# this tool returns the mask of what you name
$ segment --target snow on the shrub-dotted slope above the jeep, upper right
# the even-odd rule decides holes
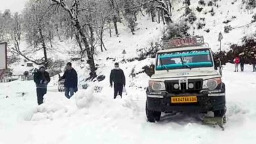
[[[231,3],[234,2],[234,5]],[[208,1],[205,1],[207,4]],[[252,37],[255,33],[255,26],[256,24],[251,24],[249,26],[245,26],[246,24],[251,23],[252,16],[255,14],[256,9],[247,10],[245,9],[245,4],[242,4],[242,1],[217,1],[219,7],[212,7],[198,5],[198,1],[191,1],[190,9],[192,12],[196,14],[196,22],[190,26],[189,33],[190,35],[203,35],[205,39],[205,43],[209,43],[209,46],[212,48],[214,52],[219,50],[220,45],[218,41],[219,33],[223,34],[223,44],[222,50],[228,51],[230,45],[238,44],[242,45],[241,39],[247,35]],[[178,3],[178,0],[175,1],[175,7],[173,10],[173,22],[179,22],[184,18],[182,14],[184,14],[184,5],[183,9],[181,9],[182,3]],[[202,7],[202,12],[198,12],[196,10],[197,7]],[[213,8],[215,15],[211,16],[210,10]],[[178,9],[181,9],[177,11]],[[205,14],[207,12],[207,14]],[[236,16],[236,18],[232,18],[232,16]],[[200,20],[200,18],[205,18],[205,20]],[[231,20],[228,24],[223,24],[224,21]],[[202,22],[205,24],[205,27],[202,29],[197,29],[197,24]],[[232,29],[229,33],[224,33],[224,26],[231,26]],[[241,28],[236,28],[240,26],[245,26]],[[195,27],[195,30],[193,30]],[[209,29],[209,33],[205,30]]]

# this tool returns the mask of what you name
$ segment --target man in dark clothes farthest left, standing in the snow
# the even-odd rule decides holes
[[[47,85],[51,81],[49,73],[45,71],[45,66],[39,66],[39,70],[34,73],[33,81],[37,87],[37,103],[43,103],[43,96],[47,93]]]

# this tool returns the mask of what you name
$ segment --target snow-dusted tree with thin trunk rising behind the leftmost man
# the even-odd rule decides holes
[[[31,61],[47,66],[47,51],[51,48],[53,40],[53,23],[51,22],[53,11],[51,9],[51,1],[28,1],[22,14],[24,16],[23,27],[26,41],[33,47],[30,52],[43,50],[42,58]],[[29,59],[20,49],[16,48],[16,51],[24,56],[24,58]]]

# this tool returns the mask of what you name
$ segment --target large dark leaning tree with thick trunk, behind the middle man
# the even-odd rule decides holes
[[[65,10],[67,12],[68,17],[71,20],[72,27],[75,27],[77,33],[79,33],[79,36],[81,37],[81,41],[83,45],[85,46],[85,49],[83,52],[86,52],[87,54],[87,63],[90,65],[90,70],[93,75],[93,77],[96,77],[96,67],[95,67],[95,60],[94,60],[94,54],[95,54],[95,48],[94,46],[90,46],[89,39],[91,38],[91,41],[93,41],[93,26],[91,25],[91,20],[93,20],[92,15],[87,15],[86,12],[91,12],[91,7],[94,7],[95,5],[93,1],[80,1],[80,0],[70,0],[70,1],[63,1],[63,0],[52,0],[53,5],[60,7],[60,9]],[[88,5],[91,5],[91,7],[87,7]],[[86,18],[86,20],[83,20]],[[88,35],[88,31],[85,28],[89,29],[91,31],[91,37]]]

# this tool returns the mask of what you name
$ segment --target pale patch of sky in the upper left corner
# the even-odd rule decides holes
[[[10,9],[11,12],[21,12],[28,0],[0,0],[0,11]]]

